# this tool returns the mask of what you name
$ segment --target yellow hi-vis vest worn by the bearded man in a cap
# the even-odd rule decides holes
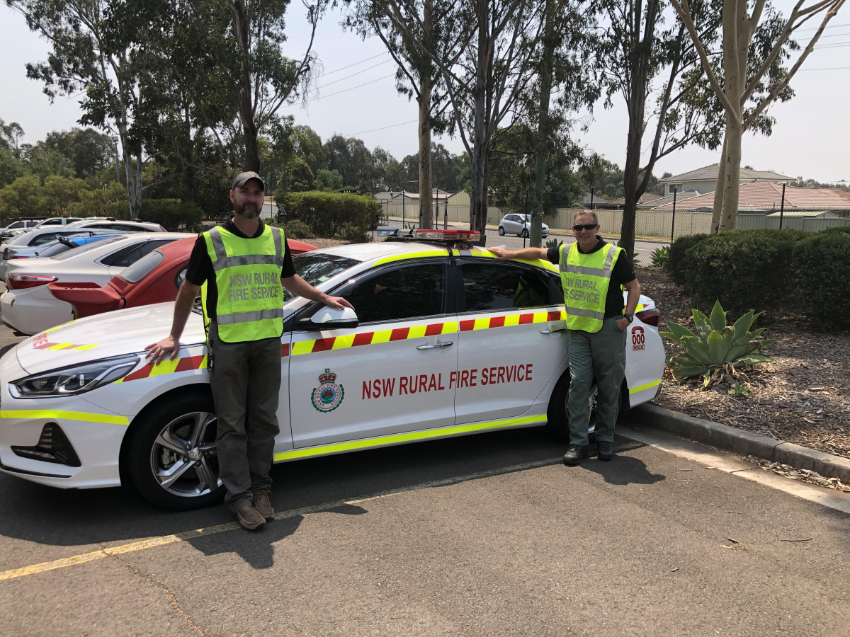
[[[237,237],[216,226],[201,236],[207,243],[218,289],[218,338],[228,343],[256,341],[283,332],[283,267],[285,235],[269,225],[254,239]],[[207,284],[201,290],[208,323]]]

